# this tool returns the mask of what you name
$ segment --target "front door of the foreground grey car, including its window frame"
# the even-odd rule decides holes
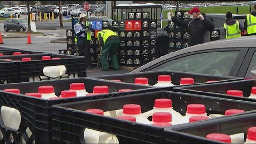
[[[237,76],[248,48],[190,52],[164,60],[144,71],[172,70],[217,76]]]

